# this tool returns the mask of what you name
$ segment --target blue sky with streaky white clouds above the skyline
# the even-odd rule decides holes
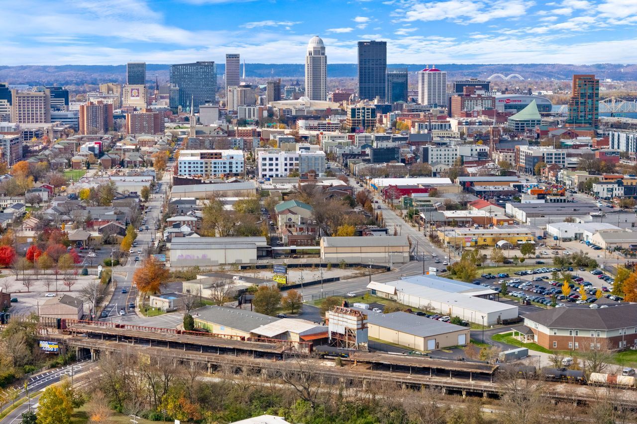
[[[19,6],[18,6],[19,4]],[[389,63],[637,62],[637,0],[0,0],[1,65],[329,63],[387,41]]]

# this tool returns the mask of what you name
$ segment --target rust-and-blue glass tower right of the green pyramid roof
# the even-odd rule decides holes
[[[590,74],[573,75],[573,94],[568,101],[567,127],[594,127],[599,121],[599,80]]]

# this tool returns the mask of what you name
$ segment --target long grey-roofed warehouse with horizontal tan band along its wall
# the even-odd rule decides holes
[[[358,264],[404,264],[409,262],[406,236],[323,237],[320,241],[322,262],[338,264],[341,260]]]

